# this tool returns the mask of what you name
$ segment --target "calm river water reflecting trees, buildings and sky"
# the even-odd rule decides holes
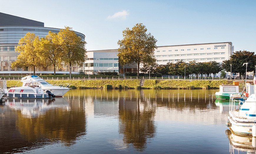
[[[0,105],[0,153],[255,153],[226,135],[229,105],[215,101],[216,91],[89,89],[9,99]]]

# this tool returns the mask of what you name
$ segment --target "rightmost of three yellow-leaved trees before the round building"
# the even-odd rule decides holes
[[[84,63],[86,55],[85,45],[86,42],[70,27],[61,29],[58,33],[59,43],[61,45],[63,55],[62,60],[65,64],[69,65],[69,74],[71,75],[72,65],[80,65]]]

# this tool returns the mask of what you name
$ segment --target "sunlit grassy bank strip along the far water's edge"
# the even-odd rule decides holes
[[[144,86],[139,88],[140,80],[46,80],[51,84],[71,83],[70,88],[87,89],[103,88],[112,85],[113,88],[152,88],[152,89],[202,89],[219,88],[222,84],[232,84],[230,80],[145,80]],[[7,88],[22,86],[20,80],[7,80]]]

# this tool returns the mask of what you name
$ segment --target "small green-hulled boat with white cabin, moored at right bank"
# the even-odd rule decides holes
[[[240,95],[239,93],[239,86],[237,85],[220,85],[220,91],[215,93],[217,99],[230,99],[231,94],[236,94],[237,96]]]

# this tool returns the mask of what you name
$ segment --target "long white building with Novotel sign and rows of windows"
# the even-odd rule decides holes
[[[189,61],[216,61],[222,63],[222,61],[230,58],[233,50],[232,42],[187,44],[159,46],[154,51],[154,55],[159,65],[165,65],[168,62],[176,63],[177,61],[186,63]]]

